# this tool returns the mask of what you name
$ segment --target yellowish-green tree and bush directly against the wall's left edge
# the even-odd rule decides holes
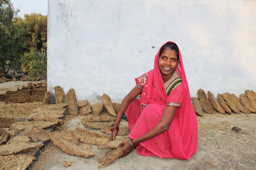
[[[21,20],[19,20],[20,22]],[[25,14],[23,23],[24,42],[28,51],[23,55],[22,62],[25,70],[34,77],[47,73],[47,15],[37,13]]]

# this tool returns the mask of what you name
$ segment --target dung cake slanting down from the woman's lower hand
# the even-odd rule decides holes
[[[105,168],[107,165],[110,165],[112,162],[114,162],[121,154],[122,149],[123,147],[119,147],[119,148],[107,151],[103,157],[98,159],[98,161],[101,163],[101,165],[99,165],[98,168]]]

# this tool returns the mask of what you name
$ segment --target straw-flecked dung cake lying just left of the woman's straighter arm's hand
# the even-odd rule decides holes
[[[79,137],[78,140],[85,144],[101,145],[109,141],[108,135],[82,130],[80,128],[76,128],[75,130],[71,131],[71,133],[73,136]]]

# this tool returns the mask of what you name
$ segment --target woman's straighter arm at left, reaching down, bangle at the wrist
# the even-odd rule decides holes
[[[116,120],[115,120],[115,124],[114,124],[114,127],[118,127],[119,126],[119,123],[121,121],[121,118],[123,116],[123,113],[125,112],[127,106],[129,105],[129,103],[135,99],[135,97],[137,97],[139,94],[142,93],[142,90],[140,90],[140,88],[136,85],[131,91],[130,93],[128,93],[126,95],[126,97],[124,97],[122,103],[120,104],[120,107],[117,111],[117,114],[116,114]],[[118,131],[112,131],[111,135],[110,135],[110,138],[109,138],[109,141],[113,141],[116,139],[116,134],[117,134]]]

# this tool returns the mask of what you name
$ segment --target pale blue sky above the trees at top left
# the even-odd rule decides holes
[[[24,14],[40,13],[47,15],[48,0],[11,0],[14,9],[20,8],[19,16],[24,18]]]

